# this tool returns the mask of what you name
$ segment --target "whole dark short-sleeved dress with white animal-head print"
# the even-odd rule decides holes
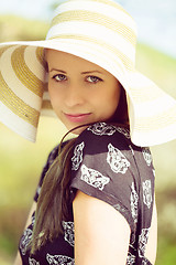
[[[34,198],[36,202],[45,173],[57,155],[58,147],[50,153],[43,169]],[[150,149],[134,146],[128,129],[97,123],[84,130],[75,142],[70,183],[73,199],[80,190],[109,203],[125,218],[131,229],[127,265],[151,265],[145,257],[145,247],[152,221],[154,176]],[[33,214],[31,225],[20,240],[23,264],[74,265],[72,209],[69,219],[63,221],[64,234],[30,256],[28,244],[34,222]]]

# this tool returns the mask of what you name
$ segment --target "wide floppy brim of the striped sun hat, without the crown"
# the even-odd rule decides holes
[[[136,70],[127,70],[106,47],[65,39],[0,44],[0,120],[12,130],[34,141],[41,110],[54,115],[43,49],[82,57],[119,80],[127,92],[133,144],[154,146],[176,138],[175,99]]]

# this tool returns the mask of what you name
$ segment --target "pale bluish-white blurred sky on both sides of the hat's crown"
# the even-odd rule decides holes
[[[50,20],[57,0],[0,0],[0,14]],[[117,0],[135,19],[139,40],[176,57],[175,0]]]

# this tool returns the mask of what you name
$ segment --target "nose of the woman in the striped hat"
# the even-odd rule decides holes
[[[82,105],[85,102],[85,96],[82,88],[77,84],[70,84],[67,87],[67,93],[65,95],[65,104],[67,107],[75,107],[77,105]]]

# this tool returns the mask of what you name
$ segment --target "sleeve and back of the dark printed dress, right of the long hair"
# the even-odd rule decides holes
[[[154,198],[150,149],[134,146],[128,129],[106,123],[90,126],[75,145],[72,188],[119,211],[131,227],[127,264],[150,264],[145,258]]]

